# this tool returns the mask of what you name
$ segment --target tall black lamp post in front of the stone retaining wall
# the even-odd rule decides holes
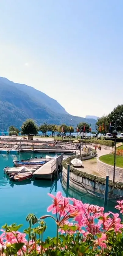
[[[114,127],[114,126],[110,126],[109,127],[109,132],[112,134],[113,138],[114,138],[114,173],[113,173],[113,183],[115,181],[115,166],[116,166],[116,138],[117,138],[117,130],[118,130],[118,127],[121,128],[122,130],[122,127],[120,125],[118,125],[117,127]]]

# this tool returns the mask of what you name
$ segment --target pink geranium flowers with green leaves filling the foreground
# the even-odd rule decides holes
[[[65,198],[61,192],[52,197],[47,211],[55,214],[38,219],[29,214],[29,228],[20,233],[22,225],[15,223],[2,227],[0,255],[41,256],[121,256],[123,251],[123,224],[119,214],[104,213],[104,208]],[[123,213],[123,200],[115,207]],[[56,223],[56,237],[43,240],[47,228],[44,219]],[[73,222],[70,220],[73,219]],[[34,225],[36,226],[34,227]],[[4,229],[4,231],[3,231]],[[26,239],[26,234],[28,239]]]

